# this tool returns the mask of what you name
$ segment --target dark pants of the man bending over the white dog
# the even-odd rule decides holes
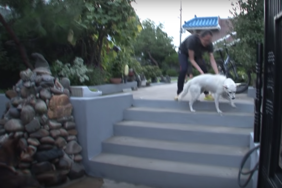
[[[192,64],[188,62],[187,55],[178,53],[178,61],[180,64],[180,73],[177,81],[177,95],[179,95],[179,93],[183,91],[185,76],[187,72],[188,74],[192,73]],[[204,73],[208,72],[204,59],[196,60],[196,62]],[[209,92],[205,91],[204,94],[209,94]]]

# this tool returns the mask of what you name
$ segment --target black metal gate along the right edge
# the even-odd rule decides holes
[[[263,110],[258,188],[282,187],[282,0],[265,0]]]

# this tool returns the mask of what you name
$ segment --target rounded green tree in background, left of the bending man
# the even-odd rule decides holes
[[[143,30],[134,43],[135,56],[142,57],[145,61],[162,68],[162,62],[167,56],[175,53],[172,37],[163,31],[164,25],[155,24],[146,19],[142,22]]]

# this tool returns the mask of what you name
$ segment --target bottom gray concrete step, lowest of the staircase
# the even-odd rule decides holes
[[[239,188],[238,168],[207,166],[101,153],[91,159],[93,175],[156,188]],[[242,177],[243,181],[244,177]],[[247,188],[251,188],[250,183]]]

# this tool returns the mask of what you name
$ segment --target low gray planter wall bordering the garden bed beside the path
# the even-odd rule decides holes
[[[120,93],[123,89],[130,89],[137,87],[137,82],[127,82],[126,84],[105,84],[98,86],[88,86],[89,89],[96,89],[102,91],[103,95],[112,94],[112,93]]]

